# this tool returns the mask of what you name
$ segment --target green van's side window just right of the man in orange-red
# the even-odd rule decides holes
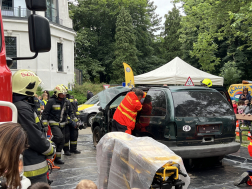
[[[143,102],[143,109],[141,115],[147,114],[148,116],[166,115],[166,98],[163,91],[148,91]]]

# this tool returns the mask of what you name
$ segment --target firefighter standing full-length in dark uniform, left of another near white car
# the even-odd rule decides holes
[[[69,116],[72,121],[73,127],[76,127],[78,121],[75,117],[70,102],[66,100],[66,89],[57,85],[54,89],[54,95],[47,102],[45,110],[42,113],[43,125],[51,127],[53,134],[52,141],[56,145],[56,158],[55,163],[64,164],[61,160],[61,151],[65,143],[65,126],[67,124],[67,117]]]

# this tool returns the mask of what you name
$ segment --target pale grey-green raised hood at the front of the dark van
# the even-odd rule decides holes
[[[127,87],[112,87],[105,89],[101,92],[98,93],[99,101],[100,101],[100,106],[102,109],[106,107],[106,105],[119,93],[125,92],[125,91],[130,91],[130,88]]]

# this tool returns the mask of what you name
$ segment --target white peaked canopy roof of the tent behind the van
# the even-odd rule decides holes
[[[185,85],[188,77],[192,79],[194,85],[200,85],[200,81],[205,78],[211,79],[213,85],[223,85],[224,82],[223,77],[203,72],[181,60],[179,57],[174,58],[155,70],[135,76],[134,80],[135,84]]]

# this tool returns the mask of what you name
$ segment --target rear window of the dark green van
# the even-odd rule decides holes
[[[233,109],[219,92],[186,91],[172,93],[176,117],[233,115]]]

